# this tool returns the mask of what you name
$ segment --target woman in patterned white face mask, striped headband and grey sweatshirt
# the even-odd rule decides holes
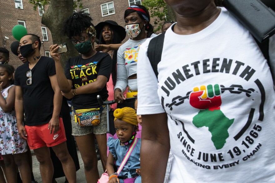
[[[123,92],[128,86],[127,98],[137,94],[137,60],[139,46],[148,37],[155,37],[150,15],[146,7],[135,4],[124,12],[125,30],[132,38],[118,49],[118,74],[114,98],[118,103],[125,100]]]

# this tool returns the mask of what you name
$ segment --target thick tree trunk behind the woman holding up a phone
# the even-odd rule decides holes
[[[70,39],[61,33],[63,22],[73,14],[73,0],[53,0],[42,16],[41,23],[47,26],[53,38],[53,44],[67,43],[68,52],[61,54],[60,61],[64,67],[69,58],[78,55]]]

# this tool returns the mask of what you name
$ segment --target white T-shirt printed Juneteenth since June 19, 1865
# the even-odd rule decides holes
[[[167,30],[159,82],[149,40],[140,46],[138,114],[168,114],[171,183],[275,181],[272,76],[249,31],[221,9],[195,34]]]

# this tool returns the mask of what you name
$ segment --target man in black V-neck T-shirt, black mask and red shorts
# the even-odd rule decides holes
[[[76,182],[76,171],[66,146],[66,136],[59,113],[62,94],[57,84],[53,59],[40,55],[38,36],[27,34],[19,43],[20,53],[28,62],[15,72],[15,110],[18,133],[26,139],[40,163],[43,182],[52,182],[53,163],[49,147],[52,147],[62,163],[69,182]],[[26,121],[23,126],[23,113]]]

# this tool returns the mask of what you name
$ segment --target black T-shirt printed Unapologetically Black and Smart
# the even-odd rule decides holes
[[[81,55],[73,57],[67,61],[65,75],[67,79],[73,81],[73,89],[96,81],[98,75],[110,78],[112,70],[112,58],[108,53],[97,52],[88,59],[81,58]],[[76,95],[72,99],[75,109],[97,108],[99,107],[97,95],[101,95],[103,100],[108,98],[106,85],[101,91],[92,94]]]

